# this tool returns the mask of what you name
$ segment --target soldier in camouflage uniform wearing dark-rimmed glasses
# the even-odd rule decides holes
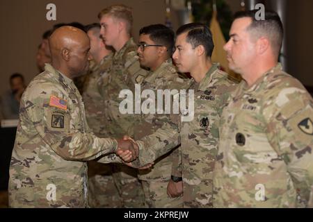
[[[185,80],[180,78],[172,65],[172,49],[174,46],[173,31],[156,24],[141,28],[139,31],[138,56],[141,66],[150,68],[150,74],[143,80],[141,90],[152,89],[157,95],[158,89],[181,89]],[[157,105],[157,101],[152,103]],[[166,104],[169,105],[169,104]],[[154,133],[164,122],[170,121],[166,114],[136,115],[138,120],[134,127],[134,139]],[[182,198],[170,198],[167,195],[168,181],[172,171],[172,159],[180,149],[175,148],[166,155],[159,157],[152,169],[140,170],[138,178],[143,184],[145,205],[147,207],[182,207]]]

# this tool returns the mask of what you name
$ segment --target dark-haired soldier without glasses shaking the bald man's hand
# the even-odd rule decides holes
[[[211,31],[203,24],[186,24],[177,30],[172,58],[179,71],[190,72],[194,112],[190,121],[164,123],[156,133],[138,140],[138,160],[146,164],[181,144],[184,207],[212,207],[212,180],[218,144],[218,121],[235,83],[212,64]],[[189,96],[188,96],[189,97]],[[178,156],[179,157],[179,156]],[[136,162],[132,163],[135,164]],[[177,173],[177,172],[176,172]],[[174,175],[174,176],[179,176]],[[181,185],[182,186],[182,185]]]

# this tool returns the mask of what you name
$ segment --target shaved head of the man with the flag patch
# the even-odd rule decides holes
[[[49,38],[52,65],[65,76],[74,78],[88,69],[90,40],[79,28],[61,26]]]

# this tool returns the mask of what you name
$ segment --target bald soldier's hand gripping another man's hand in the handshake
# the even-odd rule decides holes
[[[138,146],[130,140],[118,139],[118,150],[115,152],[125,162],[136,160],[138,155]],[[128,152],[127,152],[128,151]]]

